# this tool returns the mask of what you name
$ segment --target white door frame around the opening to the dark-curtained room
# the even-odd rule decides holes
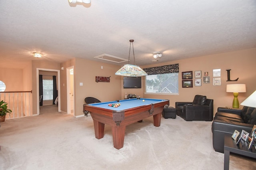
[[[37,115],[40,114],[40,105],[39,105],[39,70],[42,71],[52,71],[57,72],[57,81],[58,81],[58,112],[60,112],[60,70],[52,70],[52,69],[46,69],[46,68],[36,68],[36,96],[37,96]]]

